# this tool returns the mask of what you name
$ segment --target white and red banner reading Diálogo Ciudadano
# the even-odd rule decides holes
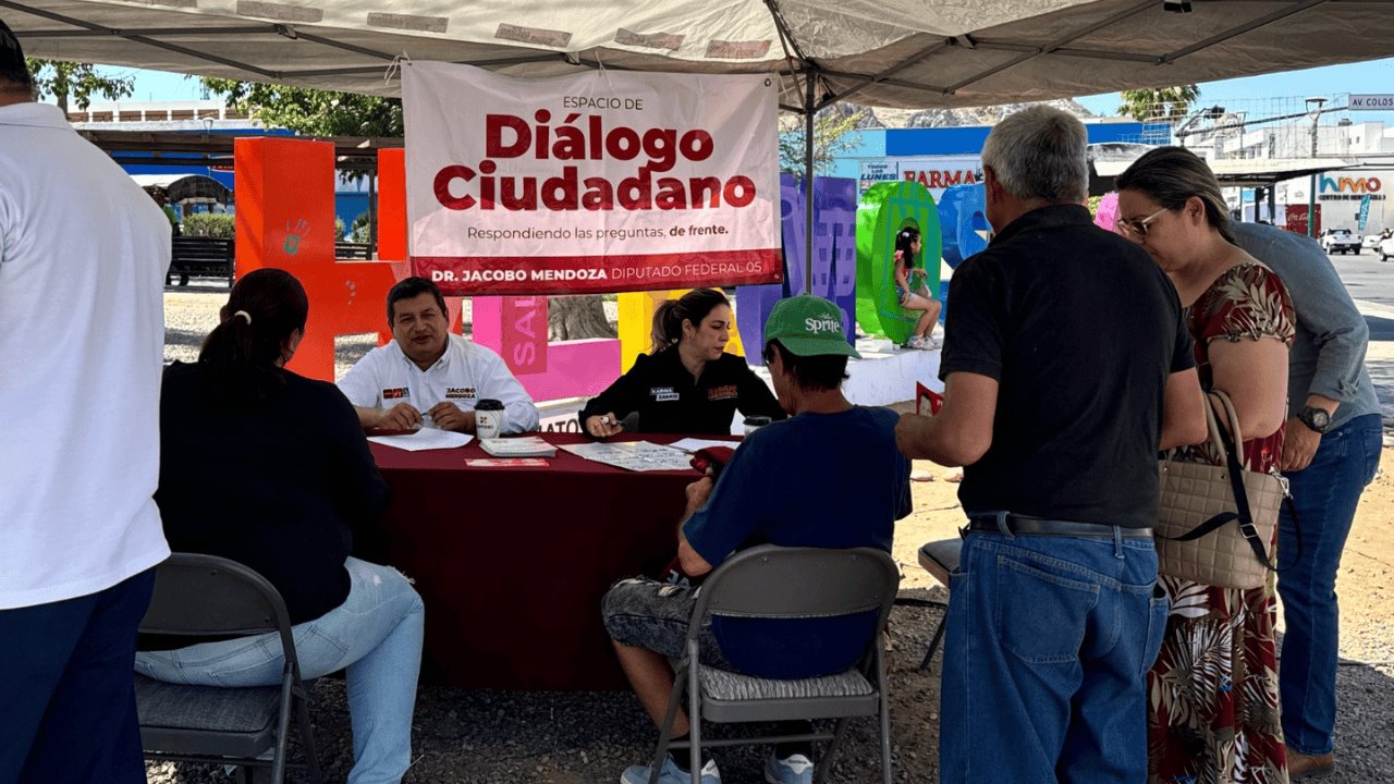
[[[401,67],[413,269],[450,294],[781,279],[775,84]]]

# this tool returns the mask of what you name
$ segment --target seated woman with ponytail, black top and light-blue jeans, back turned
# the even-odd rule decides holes
[[[350,781],[399,781],[411,763],[411,714],[424,608],[406,578],[350,558],[388,487],[348,400],[284,370],[309,311],[289,272],[237,280],[197,364],[174,363],[160,395],[155,501],[170,547],[251,566],[286,600],[301,674],[347,668]],[[173,684],[280,684],[276,635],[137,654]]]

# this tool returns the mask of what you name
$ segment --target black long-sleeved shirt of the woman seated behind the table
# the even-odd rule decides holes
[[[640,432],[728,434],[736,409],[746,416],[785,419],[779,402],[743,357],[722,354],[707,363],[701,378],[683,367],[677,349],[640,354],[634,367],[581,409],[585,420],[613,412],[625,419],[638,412]]]

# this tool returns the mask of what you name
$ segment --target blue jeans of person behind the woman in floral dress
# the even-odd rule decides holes
[[[1322,437],[1312,463],[1285,474],[1298,511],[1278,519],[1278,596],[1282,598],[1282,661],[1278,693],[1282,734],[1305,755],[1330,753],[1335,732],[1338,610],[1335,573],[1351,533],[1361,491],[1380,466],[1380,417],[1355,417]]]

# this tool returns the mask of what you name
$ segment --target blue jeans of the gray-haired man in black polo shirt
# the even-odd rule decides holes
[[[1150,538],[970,532],[949,583],[940,781],[1144,781],[1167,611]]]

